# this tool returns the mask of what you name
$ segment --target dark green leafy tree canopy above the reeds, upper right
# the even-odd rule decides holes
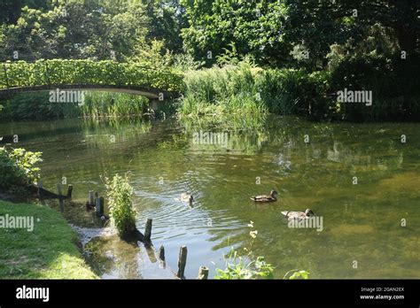
[[[212,51],[210,64],[223,50],[231,50],[231,43],[239,55],[252,54],[261,64],[313,68],[327,64],[334,44],[342,46],[344,54],[384,53],[378,42],[386,40],[408,54],[418,52],[416,0],[183,0],[182,4],[189,21],[183,29],[185,45],[199,58]],[[299,57],[302,51],[308,51],[308,58]]]

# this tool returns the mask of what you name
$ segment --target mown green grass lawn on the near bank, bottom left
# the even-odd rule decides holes
[[[0,201],[0,216],[33,216],[34,231],[0,228],[0,279],[96,279],[59,212],[41,204]],[[39,221],[37,221],[39,219]]]

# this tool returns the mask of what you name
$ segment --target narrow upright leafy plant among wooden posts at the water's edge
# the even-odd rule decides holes
[[[133,208],[133,188],[128,183],[128,174],[105,177],[106,195],[113,225],[121,237],[132,235],[136,230],[136,211]]]

